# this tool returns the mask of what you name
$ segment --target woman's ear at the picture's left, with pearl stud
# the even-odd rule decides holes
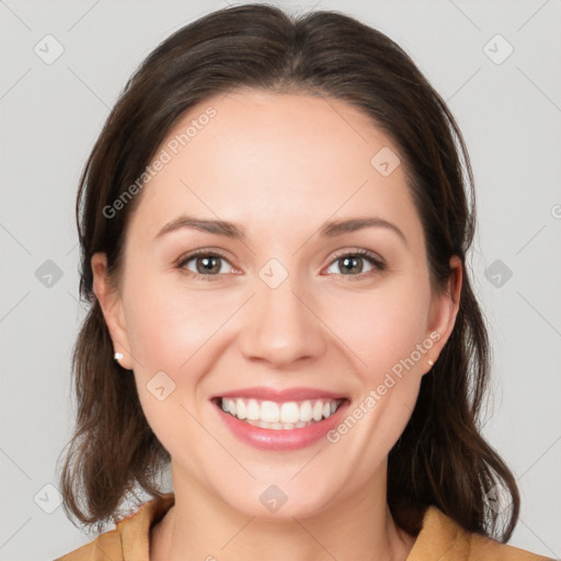
[[[131,369],[131,353],[126,330],[123,302],[118,291],[113,287],[107,274],[107,256],[105,253],[94,253],[91,259],[93,273],[93,291],[100,302],[110,331],[115,353],[122,353],[123,358],[119,365],[123,368]]]

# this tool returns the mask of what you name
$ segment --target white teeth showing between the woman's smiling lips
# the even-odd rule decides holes
[[[227,414],[260,428],[290,431],[329,419],[345,399],[275,401],[248,398],[217,398],[215,403]]]

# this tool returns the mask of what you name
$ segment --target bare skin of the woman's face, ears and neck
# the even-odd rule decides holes
[[[114,348],[172,457],[175,506],[152,529],[150,559],[405,559],[414,537],[389,513],[387,457],[454,327],[461,263],[451,259],[447,289],[434,293],[404,163],[389,176],[370,164],[382,147],[399,151],[358,110],[242,90],[192,107],[162,147],[209,105],[217,115],[138,195],[116,287],[104,255],[92,259]],[[190,228],[154,239],[183,214],[237,222],[247,240]],[[357,216],[393,224],[407,242],[381,227],[320,238],[324,221]],[[204,274],[197,259],[178,266],[197,249],[227,256],[210,282],[193,276]],[[335,253],[357,249],[386,267],[359,260],[346,272]],[[276,288],[259,276],[271,259],[288,273]],[[259,450],[209,401],[313,387],[347,396],[353,411],[434,332],[438,342],[335,444]],[[175,383],[163,401],[147,389],[159,371]],[[271,484],[287,496],[276,513],[259,499]]]

